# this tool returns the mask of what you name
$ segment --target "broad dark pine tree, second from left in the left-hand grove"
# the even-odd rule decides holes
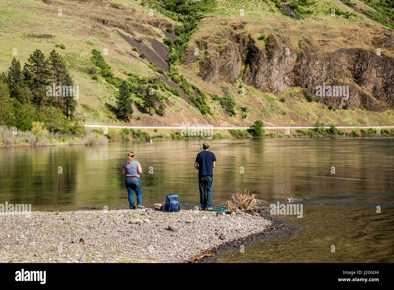
[[[48,70],[48,61],[45,59],[45,55],[41,50],[37,49],[35,52],[30,54],[26,63],[30,72],[32,72],[32,86],[35,89],[40,88],[48,84],[48,79],[50,77],[50,71]]]

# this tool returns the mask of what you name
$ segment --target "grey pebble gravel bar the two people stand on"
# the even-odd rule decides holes
[[[185,209],[1,215],[0,262],[188,262],[291,230],[258,213]]]

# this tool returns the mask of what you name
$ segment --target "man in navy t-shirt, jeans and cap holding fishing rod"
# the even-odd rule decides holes
[[[201,210],[212,209],[212,180],[214,177],[212,169],[215,167],[216,157],[214,153],[209,152],[209,147],[208,142],[203,143],[204,151],[197,154],[194,164],[195,169],[198,170]]]

